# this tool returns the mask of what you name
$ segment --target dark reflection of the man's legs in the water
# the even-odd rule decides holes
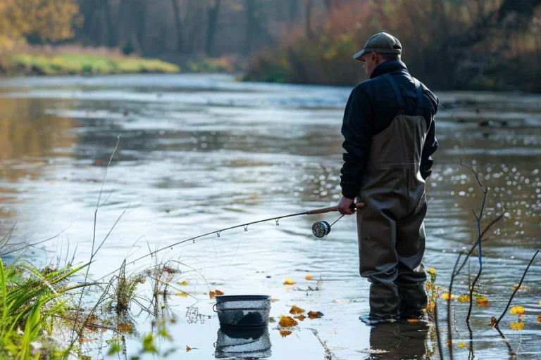
[[[369,359],[424,359],[428,326],[424,323],[383,323],[370,332]],[[376,350],[383,350],[378,354]]]

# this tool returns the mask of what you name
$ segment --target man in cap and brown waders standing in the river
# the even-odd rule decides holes
[[[402,45],[381,32],[354,60],[370,79],[352,91],[342,124],[342,214],[357,210],[361,276],[370,286],[375,324],[423,315],[427,305],[422,260],[425,252],[425,179],[437,149],[434,115],[438,99],[413,79],[400,60]]]

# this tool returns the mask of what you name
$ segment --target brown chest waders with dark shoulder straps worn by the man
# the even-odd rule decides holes
[[[423,90],[416,79],[413,93],[401,91],[389,74],[383,77],[397,97],[398,115],[372,138],[359,192],[365,207],[357,211],[360,274],[371,282],[372,323],[418,317],[427,305],[422,264],[427,208],[419,172],[427,133]],[[416,115],[406,115],[404,96],[416,98]]]

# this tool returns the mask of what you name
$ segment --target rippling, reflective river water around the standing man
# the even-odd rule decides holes
[[[270,350],[231,359],[422,359],[434,355],[434,327],[420,324],[371,329],[358,320],[368,311],[368,283],[358,276],[356,223],[346,217],[329,236],[311,234],[314,221],[337,214],[301,216],[233,229],[168,248],[138,262],[149,249],[250,221],[335,205],[340,199],[340,125],[350,89],[330,86],[239,83],[227,75],[137,75],[4,79],[0,83],[0,230],[15,224],[11,243],[39,244],[26,255],[35,262],[83,262],[121,216],[95,259],[92,278],[118,269],[143,271],[153,262],[178,261],[187,281],[168,306],[170,358],[213,359],[223,349],[213,300],[262,294],[277,301],[270,316],[292,305],[321,311],[282,338],[271,323]],[[508,314],[497,330],[487,326],[502,313],[539,247],[541,219],[541,97],[521,94],[438,93],[440,112],[433,176],[428,179],[427,267],[436,285],[449,286],[458,252],[475,240],[483,194],[461,159],[489,187],[483,224],[505,216],[483,243],[483,275],[476,286],[489,300],[473,305],[471,343],[468,304],[452,301],[454,358],[540,359],[541,259],[530,268],[514,305],[526,309],[522,330]],[[108,160],[116,146],[111,166]],[[123,214],[123,212],[125,213]],[[17,246],[17,245],[13,245]],[[69,248],[68,248],[69,247]],[[13,258],[8,255],[7,259]],[[178,263],[175,263],[178,264]],[[477,252],[456,278],[453,293],[467,292],[478,271]],[[305,276],[311,274],[312,280]],[[468,276],[470,274],[470,276]],[[294,285],[283,285],[291,278]],[[444,292],[442,289],[440,291]],[[438,301],[446,356],[446,302]],[[197,323],[187,316],[197,309]],[[137,316],[144,335],[150,320]],[[267,337],[267,335],[264,335]],[[267,342],[268,340],[268,342]],[[127,338],[128,356],[141,341]],[[192,348],[186,352],[185,348]],[[89,346],[92,347],[92,346]],[[381,354],[374,354],[374,349]],[[233,348],[234,350],[234,348]],[[267,351],[268,350],[268,351]],[[91,352],[101,357],[97,350]],[[250,357],[251,356],[251,357]],[[149,357],[151,358],[151,356]]]

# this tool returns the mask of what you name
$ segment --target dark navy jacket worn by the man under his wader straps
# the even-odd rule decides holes
[[[368,159],[372,136],[387,129],[398,115],[397,98],[391,85],[381,75],[390,74],[404,93],[415,96],[415,84],[411,80],[406,65],[399,60],[386,61],[378,65],[371,79],[361,82],[352,91],[347,101],[342,123],[344,136],[344,166],[340,186],[342,195],[354,199],[359,194],[363,170]],[[410,93],[411,91],[411,93]],[[428,134],[421,155],[421,176],[430,176],[433,160],[431,156],[437,149],[434,115],[439,104],[438,98],[423,85],[424,111]],[[416,115],[416,99],[404,96],[406,115]]]

